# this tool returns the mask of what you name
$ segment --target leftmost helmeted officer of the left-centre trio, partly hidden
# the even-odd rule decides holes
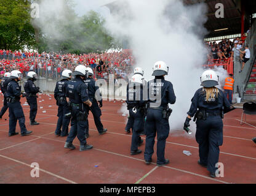
[[[62,77],[60,81],[57,81],[54,89],[54,98],[58,105],[58,122],[55,129],[55,135],[60,137],[65,137],[68,135],[68,124],[70,124],[70,107],[68,102],[66,102],[66,85],[68,80],[71,79],[71,70],[65,69],[62,72]],[[61,131],[62,129],[62,131]]]

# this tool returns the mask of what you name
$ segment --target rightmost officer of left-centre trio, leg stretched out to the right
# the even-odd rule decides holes
[[[90,107],[89,109],[90,111],[92,111],[92,115],[94,116],[94,123],[97,127],[98,134],[102,135],[102,134],[105,134],[107,131],[107,129],[103,128],[103,124],[100,121],[100,116],[102,115],[102,111],[100,110],[100,108],[103,106],[102,95],[100,94],[100,89],[98,88],[98,85],[95,83],[94,78],[92,78],[92,76],[94,75],[94,72],[92,69],[90,69],[90,67],[87,67],[87,74],[88,75],[85,80],[85,83],[88,86],[88,96],[89,96],[90,102],[92,102],[92,107]],[[98,104],[100,105],[100,107]],[[87,119],[86,138],[88,137],[89,137],[89,123]]]

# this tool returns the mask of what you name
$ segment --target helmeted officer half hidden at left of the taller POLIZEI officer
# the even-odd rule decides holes
[[[130,155],[140,154],[138,149],[143,143],[140,132],[144,130],[144,116],[146,101],[143,100],[143,77],[135,74],[127,85],[127,108],[129,109],[129,119],[132,127],[132,145]],[[145,92],[147,93],[147,92]]]

